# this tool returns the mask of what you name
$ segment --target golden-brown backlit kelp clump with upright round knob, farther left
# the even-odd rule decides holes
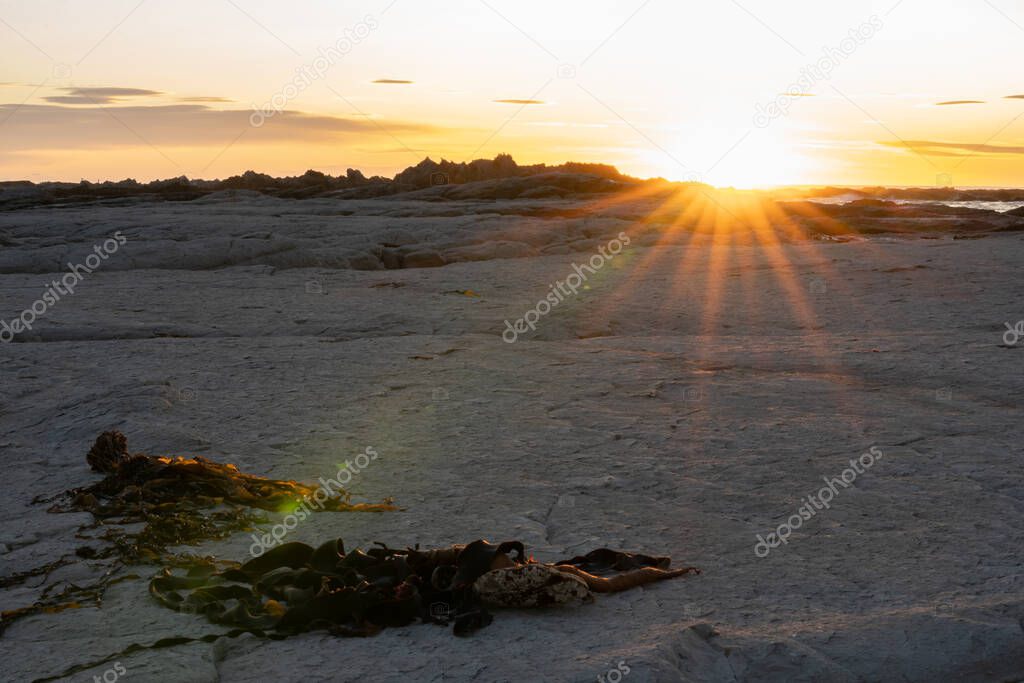
[[[11,622],[29,614],[99,606],[111,585],[134,577],[119,575],[130,565],[158,564],[193,570],[206,567],[213,571],[223,563],[168,549],[198,546],[251,530],[257,524],[268,523],[262,511],[287,509],[318,490],[297,481],[246,474],[234,465],[201,457],[130,454],[127,438],[117,431],[100,434],[86,455],[86,462],[105,476],[88,486],[37,498],[34,503],[52,503],[49,512],[53,513],[91,513],[92,522],[83,525],[76,538],[98,545],[81,546],[75,553],[39,567],[0,578],[0,588],[39,577],[46,584],[54,571],[82,561],[98,562],[97,579],[84,586],[63,582],[46,585],[32,605],[0,614],[0,634]],[[337,512],[397,509],[390,500],[354,504],[344,492],[318,501],[317,507]]]

